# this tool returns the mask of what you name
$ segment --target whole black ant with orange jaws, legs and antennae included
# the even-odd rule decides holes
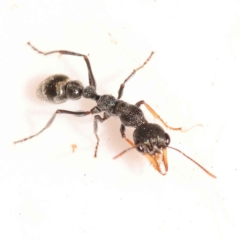
[[[125,87],[125,84],[128,82],[128,80],[135,75],[135,73],[143,68],[149,60],[152,58],[154,52],[151,52],[149,57],[146,59],[146,61],[139,66],[138,68],[134,69],[132,73],[123,81],[123,83],[120,85],[120,88],[118,90],[118,97],[115,98],[112,95],[98,95],[96,92],[96,81],[93,76],[92,68],[90,61],[88,59],[87,55],[71,52],[67,50],[55,50],[55,51],[49,51],[49,52],[42,52],[38,50],[36,47],[34,47],[30,42],[27,43],[33,50],[36,52],[43,54],[43,55],[50,55],[54,53],[64,54],[64,55],[72,55],[72,56],[79,56],[83,57],[84,61],[86,62],[87,69],[88,69],[88,76],[89,76],[89,86],[83,87],[82,83],[80,81],[76,80],[70,80],[68,76],[63,74],[55,74],[47,79],[45,79],[40,86],[37,89],[37,95],[42,100],[51,102],[51,103],[62,103],[65,102],[68,99],[71,100],[78,100],[81,97],[92,99],[96,101],[96,106],[93,107],[90,111],[68,111],[68,110],[62,110],[58,109],[56,112],[52,115],[50,120],[47,122],[45,127],[39,131],[38,133],[31,135],[27,138],[23,138],[19,141],[15,141],[14,144],[24,142],[26,140],[29,140],[33,137],[38,136],[40,133],[42,133],[44,130],[49,128],[51,124],[53,123],[55,117],[58,114],[70,114],[74,115],[76,117],[85,117],[87,115],[94,115],[94,134],[97,139],[95,151],[94,151],[94,157],[97,157],[97,150],[99,146],[99,137],[97,134],[98,131],[98,122],[104,122],[108,118],[115,116],[118,117],[121,121],[121,127],[120,127],[120,133],[122,135],[122,138],[124,138],[132,147],[129,149],[126,149],[125,151],[121,152],[117,156],[114,157],[117,158],[121,156],[126,151],[129,151],[131,149],[136,149],[138,152],[144,154],[149,162],[153,165],[153,167],[162,175],[165,175],[168,171],[168,161],[167,161],[167,148],[171,148],[175,151],[178,151],[179,153],[183,154],[186,158],[194,162],[196,165],[198,165],[203,171],[205,171],[208,175],[210,175],[213,178],[216,178],[212,173],[210,173],[208,170],[206,170],[204,167],[202,167],[199,163],[197,163],[195,160],[187,156],[182,151],[169,146],[170,144],[170,136],[164,131],[164,129],[159,126],[158,124],[154,123],[148,123],[148,121],[145,119],[144,114],[142,110],[140,109],[141,105],[144,105],[147,110],[158,120],[160,120],[163,125],[170,129],[175,131],[185,131],[182,128],[174,128],[168,126],[163,119],[143,100],[137,102],[135,105],[129,104],[127,102],[124,102],[121,99],[123,95],[123,90]],[[103,117],[98,115],[99,113],[103,112]],[[198,124],[200,125],[200,124]],[[195,125],[197,126],[197,125]],[[195,127],[193,126],[193,127]],[[133,127],[135,128],[133,132],[133,141],[134,143],[128,139],[125,135],[125,127]],[[190,128],[189,128],[190,129]],[[187,129],[187,130],[189,130]]]

